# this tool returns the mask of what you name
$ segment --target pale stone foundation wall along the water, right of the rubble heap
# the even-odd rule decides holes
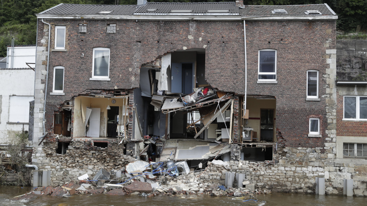
[[[183,184],[197,183],[199,188],[206,190],[224,185],[226,172],[236,172],[245,174],[245,179],[254,183],[258,190],[315,194],[315,177],[325,177],[327,195],[343,195],[343,180],[353,179],[354,195],[367,196],[367,167],[337,163],[333,151],[335,147],[278,148],[275,156],[279,163],[230,161],[229,166],[223,166],[208,162],[205,172],[176,179]]]

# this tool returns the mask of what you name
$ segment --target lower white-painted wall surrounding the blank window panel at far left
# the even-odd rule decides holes
[[[2,96],[0,114],[0,144],[14,143],[15,134],[28,130],[28,124],[8,124],[10,96],[34,95],[34,71],[31,69],[0,69],[0,95]]]

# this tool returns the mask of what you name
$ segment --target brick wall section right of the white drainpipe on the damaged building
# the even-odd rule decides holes
[[[328,29],[331,29],[328,31]],[[291,147],[322,147],[327,135],[308,137],[309,116],[326,115],[326,49],[335,49],[335,21],[246,21],[247,94],[276,97],[276,127]],[[277,84],[257,84],[258,50],[277,49]],[[306,101],[306,71],[319,70],[320,101]],[[320,119],[321,128],[327,119]]]

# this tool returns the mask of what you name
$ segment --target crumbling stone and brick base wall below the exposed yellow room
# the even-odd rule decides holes
[[[65,140],[65,139],[64,139]],[[124,171],[125,166],[134,158],[124,155],[123,144],[109,141],[108,147],[93,146],[92,139],[71,139],[66,154],[57,154],[57,142],[44,143],[43,150],[36,150],[32,161],[39,166],[39,170],[51,170],[51,184],[63,185],[69,180],[83,174],[93,176],[101,169],[105,169],[114,177],[117,170]]]

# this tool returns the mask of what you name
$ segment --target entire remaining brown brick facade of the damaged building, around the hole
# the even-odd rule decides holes
[[[139,66],[178,49],[206,49],[206,80],[222,91],[244,94],[244,42],[241,21],[112,21],[51,20],[66,25],[67,52],[50,52],[47,95],[52,90],[53,67],[65,66],[65,96],[47,97],[46,124],[53,111],[86,89],[113,90],[139,87]],[[87,23],[87,33],[79,33]],[[107,23],[116,23],[116,34],[107,34]],[[46,36],[39,21],[39,45]],[[191,38],[191,36],[193,38]],[[320,137],[308,137],[310,115],[326,116],[326,49],[335,49],[335,21],[247,21],[248,95],[272,95],[277,99],[277,131],[286,146],[317,147],[325,142],[327,118],[321,120]],[[189,38],[190,37],[190,38]],[[44,43],[43,43],[44,44]],[[90,81],[92,49],[110,48],[110,81]],[[257,84],[258,50],[277,49],[277,84]],[[81,54],[84,54],[81,57]],[[319,70],[320,101],[306,101],[306,70]],[[44,82],[44,80],[42,80]],[[131,100],[130,100],[131,101]],[[130,106],[131,107],[131,106]],[[129,131],[132,128],[129,126]],[[236,136],[236,135],[235,135]]]

